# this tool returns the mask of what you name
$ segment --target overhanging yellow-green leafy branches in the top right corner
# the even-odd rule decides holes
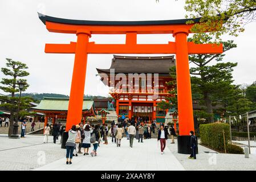
[[[210,31],[210,36],[221,40],[220,36],[229,34],[238,36],[243,32],[245,24],[255,20],[255,0],[186,0],[186,18],[202,17],[200,22],[192,27],[197,32],[194,40],[204,39],[201,34]],[[194,23],[188,21],[188,24]],[[223,24],[222,24],[223,23]]]

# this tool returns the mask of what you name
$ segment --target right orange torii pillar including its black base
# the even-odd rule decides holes
[[[190,154],[189,132],[194,131],[192,92],[188,60],[188,30],[173,32],[176,42],[176,75],[178,98],[178,153]]]

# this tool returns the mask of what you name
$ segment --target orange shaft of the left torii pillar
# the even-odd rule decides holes
[[[91,34],[87,30],[78,30],[75,62],[71,83],[70,101],[68,104],[66,131],[77,125],[82,119],[84,84],[86,82],[87,45]]]

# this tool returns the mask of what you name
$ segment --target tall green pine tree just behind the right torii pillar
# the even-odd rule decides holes
[[[204,35],[205,39],[197,40],[196,43],[210,43],[212,38]],[[192,39],[188,39],[192,41]],[[224,52],[237,47],[233,41],[222,42]],[[205,105],[201,111],[196,112],[197,116],[205,116],[210,122],[213,122],[213,106],[221,104],[222,100],[230,94],[231,83],[233,82],[232,72],[237,63],[220,63],[225,54],[201,54],[190,55],[189,61],[192,64],[190,68],[192,97],[193,100],[200,101]],[[216,64],[213,62],[216,61]],[[208,117],[207,117],[208,116]]]

